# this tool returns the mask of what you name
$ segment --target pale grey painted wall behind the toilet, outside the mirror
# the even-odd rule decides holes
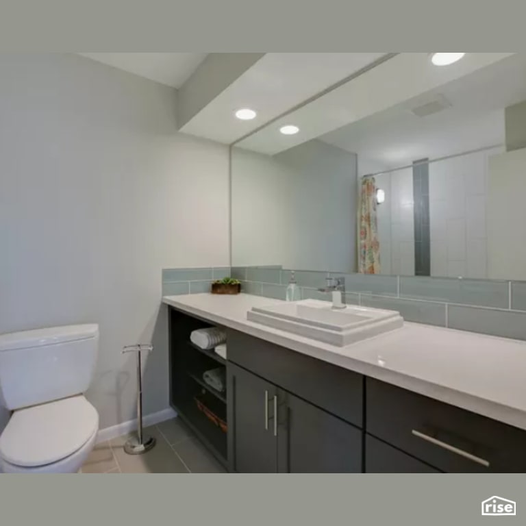
[[[227,147],[176,132],[175,90],[76,55],[0,55],[0,333],[97,322],[101,427],[168,407],[161,269],[227,266]]]

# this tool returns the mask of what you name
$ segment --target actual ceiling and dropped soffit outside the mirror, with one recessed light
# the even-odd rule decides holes
[[[386,55],[386,53],[80,54],[177,88],[180,131],[225,144],[231,144],[250,134],[284,112],[292,110],[310,97],[334,86]],[[247,60],[240,58],[240,55]],[[258,56],[253,63],[250,63],[249,55]],[[236,67],[238,62],[245,62],[247,67]],[[195,72],[196,75],[193,75]],[[240,108],[255,110],[256,118],[252,121],[240,121],[235,118],[234,112]]]

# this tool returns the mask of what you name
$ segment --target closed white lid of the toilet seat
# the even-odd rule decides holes
[[[79,395],[15,411],[0,436],[0,456],[43,466],[80,449],[99,427],[97,410]]]

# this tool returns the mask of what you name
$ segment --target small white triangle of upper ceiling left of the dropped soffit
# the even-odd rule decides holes
[[[180,88],[207,53],[79,53],[109,66]]]

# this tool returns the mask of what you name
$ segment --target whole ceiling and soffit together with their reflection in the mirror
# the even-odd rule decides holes
[[[467,53],[442,68],[429,53],[388,60],[387,53],[80,54],[177,88],[179,110],[192,109],[179,119],[181,132],[225,144],[245,137],[238,146],[271,155],[312,138],[390,166],[475,149],[503,142],[503,108],[526,99],[526,59],[518,53]],[[425,117],[410,112],[436,93],[451,108]],[[258,112],[252,121],[235,118],[245,107]],[[299,134],[280,134],[287,124]]]

